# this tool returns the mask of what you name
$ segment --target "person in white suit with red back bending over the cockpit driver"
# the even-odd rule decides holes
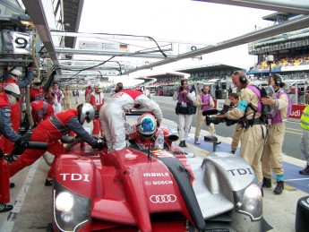
[[[107,99],[99,111],[99,119],[107,140],[108,151],[122,150],[126,146],[124,112],[133,107],[147,107],[156,116],[158,123],[162,121],[162,111],[159,105],[147,98],[139,90],[121,90]]]

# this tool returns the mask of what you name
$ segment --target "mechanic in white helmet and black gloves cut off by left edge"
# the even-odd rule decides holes
[[[20,98],[21,91],[15,83],[6,84],[4,91],[0,93],[0,140],[2,141],[5,138],[6,140],[15,142],[16,147],[18,147],[17,150],[14,150],[15,154],[21,154],[28,146],[28,142],[23,141],[21,136],[13,130],[11,123],[11,107],[15,105]],[[0,154],[4,155],[1,149]],[[4,186],[0,186],[0,188],[4,188]],[[12,209],[13,205],[0,202],[0,212],[11,211]]]

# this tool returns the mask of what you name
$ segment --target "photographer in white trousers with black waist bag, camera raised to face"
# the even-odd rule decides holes
[[[175,91],[173,100],[177,101],[176,115],[178,115],[178,135],[179,147],[187,147],[185,140],[188,138],[193,114],[196,113],[196,107],[193,106],[195,92],[190,92],[188,83],[181,80],[181,86]]]

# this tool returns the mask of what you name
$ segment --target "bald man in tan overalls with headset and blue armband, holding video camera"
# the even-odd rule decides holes
[[[240,157],[251,165],[255,176],[262,185],[261,157],[266,126],[260,119],[262,109],[261,93],[247,80],[245,73],[242,71],[236,71],[232,74],[232,82],[239,90],[242,90],[240,93],[241,100],[237,107],[217,117],[227,117],[232,120],[241,119],[244,133],[240,140]]]

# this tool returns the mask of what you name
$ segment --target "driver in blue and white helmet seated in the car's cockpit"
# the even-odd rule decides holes
[[[136,144],[139,149],[159,149],[164,147],[164,133],[157,127],[157,120],[150,113],[142,114],[137,119],[137,124],[125,124],[125,134],[129,142]]]

